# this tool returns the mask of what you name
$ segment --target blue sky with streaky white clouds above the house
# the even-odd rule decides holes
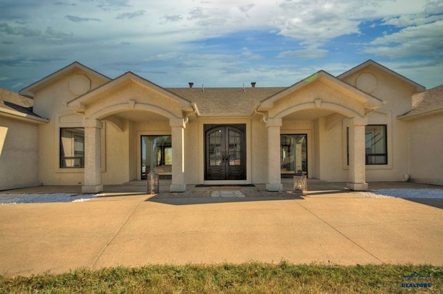
[[[0,87],[79,61],[168,87],[290,86],[373,59],[443,84],[443,0],[1,0]]]

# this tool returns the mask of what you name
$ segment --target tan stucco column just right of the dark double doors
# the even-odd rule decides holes
[[[268,135],[268,181],[266,190],[283,190],[280,176],[280,127],[282,119],[268,119],[266,130]]]

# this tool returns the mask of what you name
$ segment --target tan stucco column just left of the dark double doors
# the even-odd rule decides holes
[[[172,184],[171,192],[184,192],[185,182],[185,123],[183,119],[170,119],[172,130]]]

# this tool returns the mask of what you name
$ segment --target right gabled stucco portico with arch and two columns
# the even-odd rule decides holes
[[[343,145],[328,146],[328,136],[334,136],[331,126],[347,119],[349,136],[349,167],[347,168],[347,187],[352,190],[367,190],[365,182],[365,125],[368,112],[383,105],[382,101],[361,90],[343,83],[327,72],[317,72],[308,79],[278,92],[262,101],[256,112],[260,112],[266,121],[268,142],[268,179],[266,188],[271,191],[282,190],[282,134],[297,134],[297,128],[288,127],[288,121],[308,121],[309,131],[314,138],[315,162],[309,163],[314,168],[314,177],[321,179],[320,157],[325,157],[327,148],[337,148],[341,156]],[[337,130],[335,128],[334,130]],[[339,128],[340,134],[343,134]],[[341,136],[341,135],[340,135]],[[341,137],[329,140],[341,143]],[[300,161],[301,163],[301,161]],[[294,162],[295,164],[295,162]],[[302,164],[300,164],[302,166]],[[321,168],[320,168],[321,167]],[[343,168],[343,166],[336,166]],[[302,168],[301,168],[302,169]],[[308,172],[311,173],[311,172]]]

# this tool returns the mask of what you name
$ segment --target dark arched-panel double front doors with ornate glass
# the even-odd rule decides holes
[[[205,125],[205,179],[246,179],[244,124]]]

